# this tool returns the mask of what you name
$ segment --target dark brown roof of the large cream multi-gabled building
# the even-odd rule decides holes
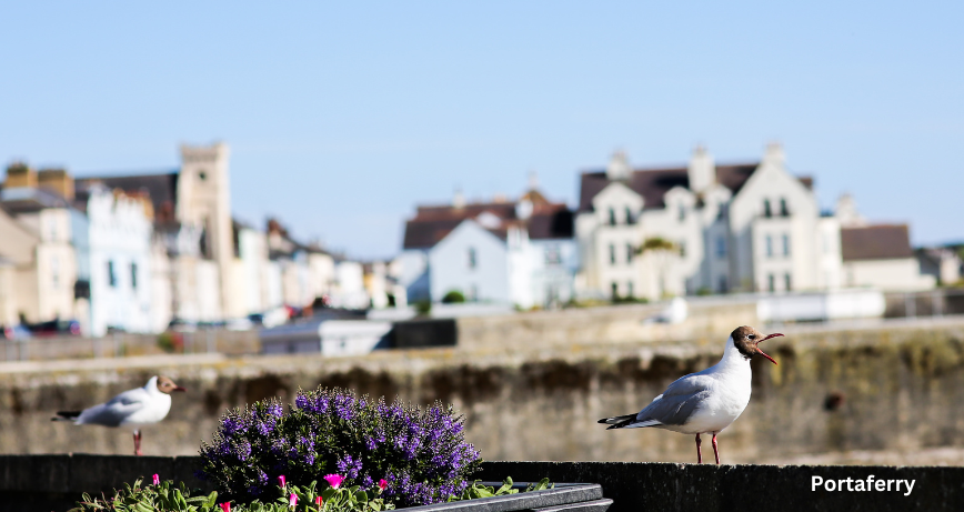
[[[735,194],[759,165],[759,162],[716,165],[716,182]],[[801,181],[807,188],[813,184],[809,178],[801,178]],[[607,184],[610,180],[605,171],[584,172],[580,182],[579,211],[592,211],[593,198]],[[665,208],[666,192],[674,187],[689,189],[690,174],[685,167],[636,169],[630,174],[626,185],[643,197],[643,209]]]

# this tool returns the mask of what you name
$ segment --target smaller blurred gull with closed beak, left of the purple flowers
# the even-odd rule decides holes
[[[52,421],[76,425],[140,426],[157,423],[171,410],[171,392],[187,391],[167,377],[154,375],[143,388],[124,391],[106,403],[83,411],[58,411]],[[141,431],[134,429],[134,454],[141,453]]]

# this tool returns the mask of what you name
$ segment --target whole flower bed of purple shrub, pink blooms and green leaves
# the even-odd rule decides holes
[[[222,416],[195,472],[218,492],[192,498],[183,483],[154,475],[110,500],[86,495],[76,510],[380,512],[519,493],[511,479],[498,488],[470,480],[481,460],[463,431],[462,416],[439,402],[422,409],[343,390],[300,391],[287,412],[267,400]]]

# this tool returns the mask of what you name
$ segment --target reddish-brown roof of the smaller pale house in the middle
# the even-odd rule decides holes
[[[523,198],[533,202],[532,214],[524,220],[519,219],[515,203],[511,202],[471,203],[462,208],[449,204],[419,207],[415,217],[405,222],[402,248],[432,248],[464,220],[476,219],[486,212],[499,219],[500,224],[482,228],[502,240],[505,240],[511,225],[525,227],[531,240],[572,238],[572,212],[564,203],[548,202],[541,193],[534,191],[530,191]]]

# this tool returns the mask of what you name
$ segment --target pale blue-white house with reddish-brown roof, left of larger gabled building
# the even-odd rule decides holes
[[[516,203],[419,207],[405,224],[399,282],[409,302],[469,301],[532,308],[568,302],[579,267],[572,214],[535,190]]]

